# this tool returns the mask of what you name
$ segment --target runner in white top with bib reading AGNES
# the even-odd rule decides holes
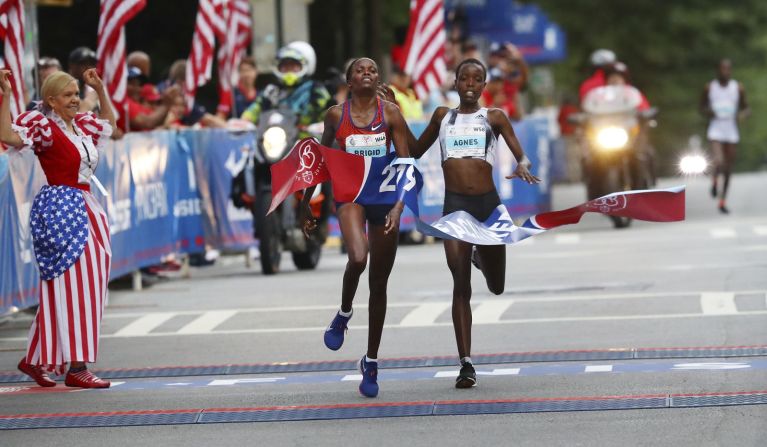
[[[487,77],[485,66],[476,59],[467,59],[458,65],[455,74],[460,105],[457,109],[440,107],[435,110],[419,140],[416,142],[410,135],[410,148],[413,156],[419,158],[439,139],[445,176],[442,214],[465,211],[483,222],[498,212],[499,206],[503,207],[493,183],[498,135],[503,137],[518,161],[514,173],[506,178],[516,177],[530,184],[538,183],[540,179],[530,173],[531,163],[514,135],[509,118],[500,109],[479,105]],[[471,364],[471,264],[482,271],[491,292],[503,293],[506,246],[474,245],[457,239],[445,240],[444,246],[447,265],[453,275],[453,326],[461,360],[455,386],[471,388],[477,383]]]

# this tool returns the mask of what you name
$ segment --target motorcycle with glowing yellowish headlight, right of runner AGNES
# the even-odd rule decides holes
[[[647,139],[655,127],[657,109],[639,111],[639,91],[629,85],[610,85],[589,92],[582,113],[570,115],[577,125],[583,150],[589,200],[618,191],[655,185],[653,150]],[[631,224],[627,217],[610,216],[615,228]]]

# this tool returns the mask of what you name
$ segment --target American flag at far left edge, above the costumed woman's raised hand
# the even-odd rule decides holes
[[[5,42],[2,66],[11,70],[11,115],[25,110],[24,72],[24,4],[22,0],[0,0],[0,39]]]

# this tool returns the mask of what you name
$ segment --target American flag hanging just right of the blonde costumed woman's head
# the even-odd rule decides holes
[[[146,0],[101,0],[98,29],[98,71],[118,115],[125,110],[128,66],[125,64],[125,24],[146,6]],[[102,105],[103,107],[103,105]]]

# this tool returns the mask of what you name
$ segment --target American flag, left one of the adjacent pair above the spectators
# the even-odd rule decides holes
[[[205,85],[211,78],[216,39],[224,41],[226,38],[224,11],[227,3],[227,0],[200,0],[197,7],[192,51],[186,61],[184,97],[187,108],[194,105],[197,87]]]

